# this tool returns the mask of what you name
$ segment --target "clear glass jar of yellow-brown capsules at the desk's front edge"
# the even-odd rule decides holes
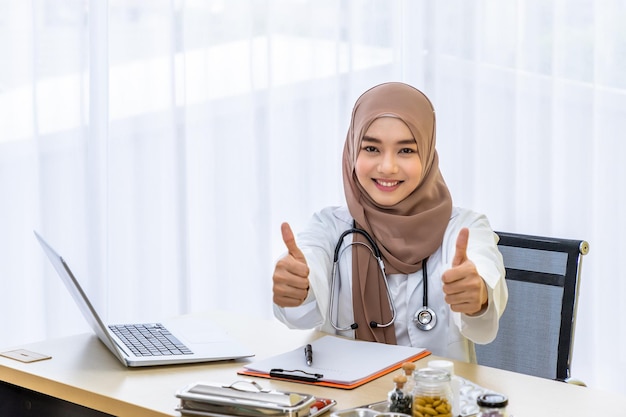
[[[422,368],[413,374],[413,417],[452,417],[450,373]]]

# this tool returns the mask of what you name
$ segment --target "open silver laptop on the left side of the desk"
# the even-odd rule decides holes
[[[35,236],[93,331],[125,366],[210,362],[254,356],[246,346],[202,317],[181,316],[154,323],[105,324],[65,260],[36,231]]]

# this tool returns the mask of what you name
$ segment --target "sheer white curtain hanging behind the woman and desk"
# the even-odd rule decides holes
[[[343,203],[351,106],[399,80],[434,102],[457,205],[590,242],[573,376],[626,392],[625,21],[624,0],[0,0],[0,347],[89,331],[33,230],[107,320],[271,317],[280,223]]]

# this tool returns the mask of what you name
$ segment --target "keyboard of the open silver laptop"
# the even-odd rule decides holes
[[[191,355],[193,352],[162,324],[121,324],[109,326],[136,356]]]

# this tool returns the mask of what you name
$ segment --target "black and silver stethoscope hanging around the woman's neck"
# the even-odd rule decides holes
[[[351,233],[357,233],[357,234],[364,236],[365,239],[369,242],[369,245],[364,242],[353,240],[352,243],[350,243],[349,245],[346,245],[342,249],[344,238]],[[374,239],[365,230],[359,229],[355,225],[353,225],[351,229],[346,230],[345,232],[341,234],[341,236],[339,236],[339,241],[337,242],[337,246],[335,246],[335,256],[333,258],[333,274],[332,274],[331,283],[330,283],[330,304],[328,307],[328,315],[330,317],[330,324],[336,330],[339,330],[339,331],[356,330],[359,327],[357,323],[352,323],[350,326],[347,326],[347,327],[339,326],[339,323],[336,317],[337,309],[335,308],[338,297],[339,297],[338,295],[335,296],[335,289],[336,289],[336,286],[338,285],[337,274],[339,273],[339,258],[341,257],[343,252],[352,245],[365,246],[366,248],[369,249],[372,256],[376,258],[376,261],[378,263],[378,269],[380,270],[380,274],[382,275],[383,282],[385,284],[385,290],[387,291],[387,300],[389,301],[389,306],[391,307],[391,320],[389,320],[389,322],[378,323],[372,320],[369,322],[369,325],[371,328],[389,327],[396,321],[396,306],[395,306],[395,303],[393,302],[393,299],[391,298],[391,292],[389,291],[389,284],[387,283],[387,274],[385,273],[385,264],[383,263],[383,258],[380,254],[380,249],[378,248],[378,245],[376,244]],[[418,329],[424,330],[424,331],[432,329],[433,327],[435,327],[435,324],[437,324],[437,316],[435,315],[435,312],[430,307],[428,307],[427,261],[428,261],[428,258],[422,261],[423,289],[424,289],[424,292],[422,294],[422,307],[417,309],[415,314],[413,314],[413,324],[415,324],[415,326]]]

